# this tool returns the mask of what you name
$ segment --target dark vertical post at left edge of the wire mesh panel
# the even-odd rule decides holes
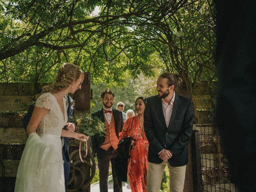
[[[194,192],[202,192],[200,134],[198,130],[192,132],[192,167]]]

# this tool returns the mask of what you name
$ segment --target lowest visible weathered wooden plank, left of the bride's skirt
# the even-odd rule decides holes
[[[20,160],[1,160],[0,173],[4,172],[3,177],[16,177]],[[2,177],[2,174],[0,174]]]

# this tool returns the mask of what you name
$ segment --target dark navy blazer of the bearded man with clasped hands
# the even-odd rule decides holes
[[[188,143],[192,135],[194,110],[192,100],[175,93],[172,116],[166,126],[162,99],[156,96],[147,98],[144,111],[144,130],[149,142],[148,161],[162,163],[158,153],[163,149],[172,152],[168,160],[171,166],[184,166],[188,163]]]

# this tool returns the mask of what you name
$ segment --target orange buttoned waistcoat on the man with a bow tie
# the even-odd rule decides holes
[[[108,124],[105,117],[104,117],[104,120],[105,120],[105,126],[106,126],[106,136],[105,136],[105,141],[104,143],[102,143],[100,148],[107,151],[110,148],[110,146],[112,146],[114,150],[116,150],[117,144],[118,144],[118,137],[116,136],[114,115],[112,114],[110,124]]]

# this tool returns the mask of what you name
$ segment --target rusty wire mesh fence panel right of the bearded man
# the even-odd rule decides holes
[[[222,153],[220,135],[213,125],[197,125],[200,132],[203,192],[238,192],[230,181],[228,162]]]

